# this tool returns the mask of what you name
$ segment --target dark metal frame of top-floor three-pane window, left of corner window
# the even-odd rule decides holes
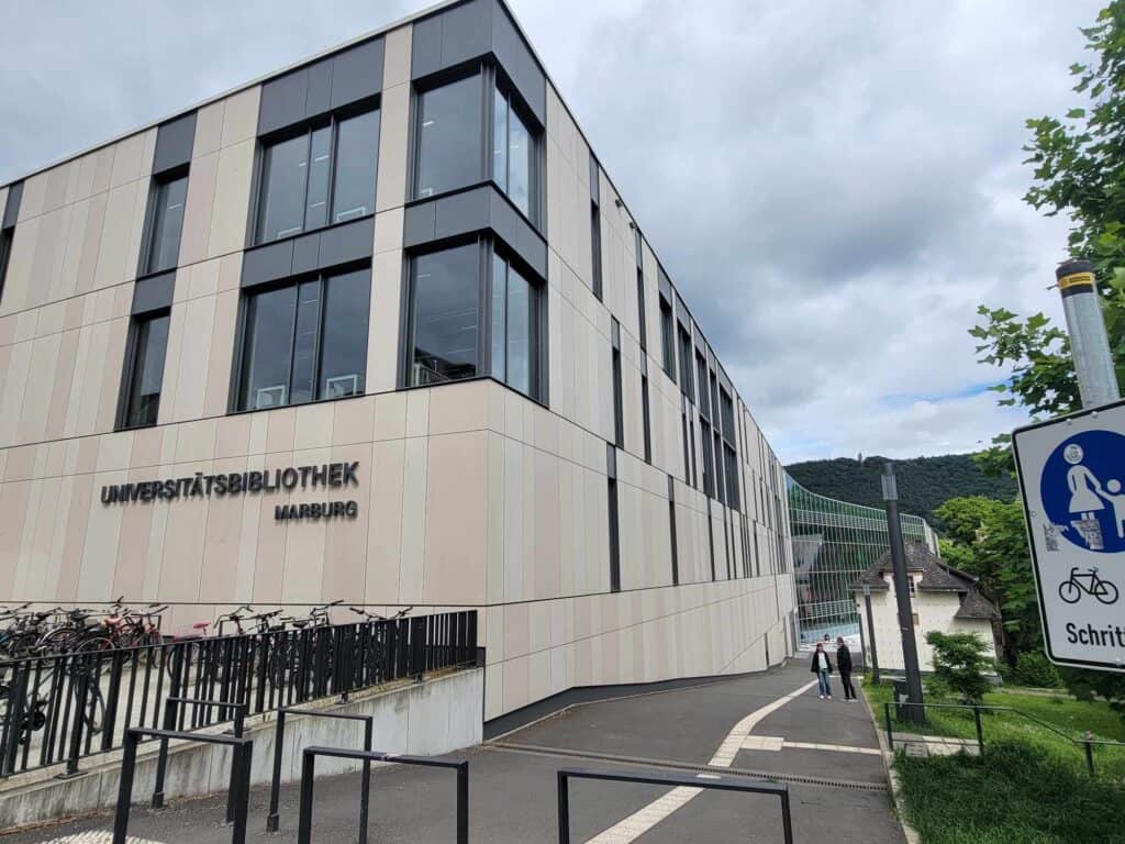
[[[372,206],[370,214],[362,214],[358,217],[352,217],[350,219],[343,219],[339,223],[332,222],[332,203],[335,199],[336,194],[336,155],[340,142],[339,126],[344,120],[352,117],[359,117],[369,111],[379,111],[379,137],[375,142],[375,186],[374,191],[377,195],[379,189],[379,146],[382,140],[382,101],[380,95],[375,95],[371,97],[364,97],[361,100],[351,102],[342,108],[338,108],[334,111],[330,111],[325,115],[318,115],[317,117],[309,120],[302,120],[300,123],[292,124],[291,126],[286,126],[285,128],[270,132],[267,135],[261,135],[258,138],[258,149],[254,154],[254,178],[250,192],[250,224],[246,226],[246,249],[252,246],[262,246],[269,243],[282,243],[292,237],[300,237],[304,234],[309,234],[312,232],[323,232],[327,228],[334,226],[344,226],[349,223],[354,223],[357,219],[366,219],[368,217],[375,216],[375,207]],[[262,224],[262,203],[266,200],[266,152],[269,147],[277,144],[284,143],[286,141],[291,141],[295,137],[300,137],[305,135],[309,140],[309,156],[312,156],[312,135],[316,129],[322,129],[325,126],[332,129],[332,140],[330,142],[331,153],[328,163],[328,192],[327,192],[327,210],[325,213],[325,223],[321,226],[315,226],[313,228],[306,227],[304,224],[305,212],[308,207],[308,174],[312,171],[312,161],[305,168],[305,189],[303,192],[304,199],[302,200],[300,214],[302,214],[302,227],[299,232],[292,232],[284,237],[274,237],[273,240],[262,240],[261,224]]]

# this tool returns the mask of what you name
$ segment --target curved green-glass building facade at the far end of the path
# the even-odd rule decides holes
[[[861,613],[852,586],[891,547],[886,511],[818,495],[789,475],[785,486],[801,643],[819,641],[826,634],[832,639],[858,636]],[[907,542],[937,553],[937,536],[925,519],[902,514],[900,521]]]

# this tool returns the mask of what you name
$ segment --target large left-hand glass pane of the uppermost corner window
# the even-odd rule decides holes
[[[418,96],[414,195],[441,194],[480,181],[480,77]]]

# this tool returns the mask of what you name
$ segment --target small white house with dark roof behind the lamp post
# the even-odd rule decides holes
[[[918,667],[921,671],[934,670],[934,648],[926,641],[926,634],[932,630],[974,634],[988,645],[990,655],[994,657],[996,625],[999,623],[1000,613],[976,589],[976,578],[943,563],[940,557],[924,545],[908,542],[906,553],[907,587],[910,590],[910,609],[918,645]],[[852,584],[852,593],[863,627],[863,640],[872,641],[874,636],[880,668],[904,671],[898,598],[889,550]],[[870,628],[865,607],[868,596],[872,620]]]

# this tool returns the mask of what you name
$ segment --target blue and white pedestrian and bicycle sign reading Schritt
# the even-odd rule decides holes
[[[1012,434],[1047,656],[1125,671],[1125,402]]]

